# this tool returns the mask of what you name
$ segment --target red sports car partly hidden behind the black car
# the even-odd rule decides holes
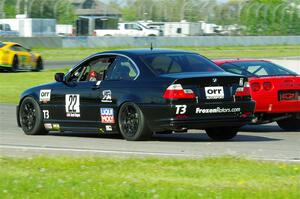
[[[264,60],[213,60],[227,72],[249,78],[256,101],[253,123],[276,121],[280,128],[300,130],[300,75]]]

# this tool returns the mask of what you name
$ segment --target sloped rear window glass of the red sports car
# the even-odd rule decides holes
[[[282,66],[264,61],[231,62],[225,63],[221,65],[221,67],[227,72],[245,75],[248,77],[297,75]]]

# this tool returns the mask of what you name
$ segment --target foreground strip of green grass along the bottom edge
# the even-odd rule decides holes
[[[1,198],[299,198],[300,165],[232,157],[0,158]]]

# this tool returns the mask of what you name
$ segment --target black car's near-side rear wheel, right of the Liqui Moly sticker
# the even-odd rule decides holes
[[[127,141],[149,140],[153,132],[148,128],[141,109],[134,103],[124,103],[118,114],[118,126]]]

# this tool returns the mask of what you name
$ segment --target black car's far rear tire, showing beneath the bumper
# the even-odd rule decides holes
[[[206,134],[213,140],[222,141],[234,138],[240,127],[213,127],[205,129]]]

